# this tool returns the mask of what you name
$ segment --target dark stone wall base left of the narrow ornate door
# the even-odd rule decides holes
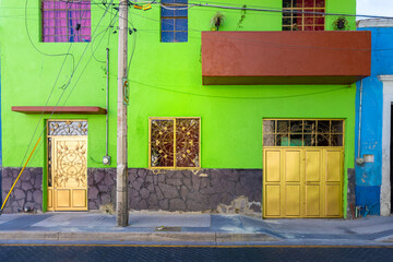
[[[12,167],[2,168],[1,192],[3,201],[21,169]],[[7,201],[3,213],[16,213],[25,207],[43,210],[43,168],[25,168]]]

